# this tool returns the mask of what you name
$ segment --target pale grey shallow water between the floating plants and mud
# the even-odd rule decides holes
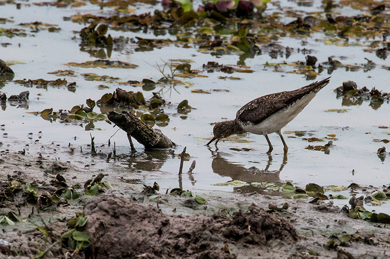
[[[29,3],[38,1],[29,1]],[[287,4],[287,3],[286,3]],[[319,10],[320,1],[314,1],[312,7],[296,6],[288,2],[293,8],[300,8],[306,12]],[[151,6],[138,5],[136,13],[153,12]],[[158,7],[160,8],[160,7]],[[276,11],[277,8],[270,6],[267,13]],[[337,9],[338,12],[345,12],[344,15],[359,13],[349,7]],[[63,17],[70,17],[73,14],[93,13],[99,15],[112,15],[114,11],[105,8],[99,10],[97,6],[87,4],[79,8],[56,8],[50,6],[38,7],[34,5],[22,6],[16,10],[15,5],[5,4],[1,6],[0,17],[14,20],[14,23],[0,24],[3,28],[23,28],[26,30],[27,37],[0,37],[1,43],[8,42],[12,45],[1,47],[0,58],[4,61],[17,60],[26,64],[16,64],[11,66],[15,72],[14,80],[19,79],[38,79],[56,80],[59,77],[53,74],[47,74],[58,69],[72,69],[78,77],[66,78],[68,82],[77,82],[76,92],[70,92],[66,87],[52,87],[47,89],[27,88],[14,82],[7,82],[0,86],[0,91],[5,92],[7,96],[19,94],[22,91],[30,91],[30,100],[28,106],[18,107],[7,102],[5,110],[0,110],[0,124],[4,124],[4,130],[1,135],[7,133],[7,138],[2,137],[0,141],[3,145],[0,150],[10,149],[13,151],[25,148],[29,144],[33,148],[31,152],[47,152],[38,146],[59,144],[62,150],[68,148],[68,144],[78,150],[80,146],[86,150],[86,144],[90,143],[90,134],[95,137],[98,145],[105,144],[102,151],[108,153],[111,147],[107,147],[108,139],[111,143],[116,142],[117,153],[128,154],[130,146],[123,131],[117,131],[117,127],[104,121],[95,122],[95,128],[102,130],[86,131],[85,123],[79,122],[59,123],[44,121],[40,116],[29,114],[28,112],[42,111],[46,108],[70,110],[74,105],[85,104],[85,100],[90,98],[97,101],[106,92],[113,92],[117,87],[125,90],[142,91],[145,99],[152,97],[152,92],[143,91],[142,87],[133,87],[120,85],[118,83],[105,84],[105,82],[86,81],[81,73],[93,72],[98,75],[109,75],[119,77],[118,81],[137,80],[149,78],[157,81],[162,77],[157,69],[149,64],[163,64],[168,59],[186,58],[194,61],[192,69],[202,70],[202,65],[208,61],[216,61],[219,64],[235,65],[239,62],[238,55],[223,55],[220,57],[211,56],[208,53],[197,52],[197,48],[185,49],[180,46],[171,45],[152,52],[135,52],[134,44],[127,44],[125,50],[113,52],[110,60],[120,60],[137,64],[137,69],[84,69],[66,66],[68,62],[85,62],[96,60],[96,57],[90,56],[87,52],[80,51],[80,38],[77,33],[87,25],[77,24],[71,21],[64,21]],[[11,18],[12,17],[12,18]],[[287,17],[290,19],[290,17]],[[59,33],[49,33],[46,30],[40,30],[37,33],[31,33],[28,28],[19,26],[20,23],[41,21],[44,23],[58,24],[61,28]],[[116,32],[109,30],[113,37],[122,35],[133,38],[135,36],[145,38],[155,38],[153,33],[146,34],[132,32]],[[334,35],[329,35],[329,37]],[[75,37],[75,38],[73,38]],[[159,36],[161,38],[175,38],[171,35]],[[223,183],[230,180],[241,180],[246,182],[267,182],[272,181],[283,185],[286,181],[291,181],[294,185],[304,188],[307,183],[316,183],[321,186],[343,185],[348,186],[352,182],[360,185],[372,185],[381,187],[390,183],[389,155],[384,161],[376,155],[378,148],[386,146],[383,142],[373,142],[374,138],[390,138],[384,133],[390,131],[378,128],[378,126],[389,125],[389,104],[383,104],[374,110],[369,106],[369,102],[363,102],[360,106],[342,106],[341,99],[336,99],[333,90],[341,86],[345,81],[354,81],[358,87],[366,86],[371,89],[375,87],[384,92],[390,91],[389,71],[381,69],[382,65],[388,65],[387,60],[378,58],[375,53],[363,52],[365,47],[337,47],[335,45],[324,45],[322,42],[323,34],[313,34],[307,38],[280,38],[279,43],[282,46],[289,46],[294,49],[291,56],[286,59],[285,56],[272,58],[267,53],[257,55],[254,58],[245,60],[245,65],[250,66],[254,73],[234,73],[234,77],[241,80],[218,79],[219,76],[231,76],[222,72],[207,73],[208,78],[181,79],[193,84],[186,88],[182,85],[160,86],[157,85],[153,91],[161,91],[162,97],[169,102],[164,107],[164,111],[170,117],[170,122],[166,127],[158,127],[162,132],[176,142],[179,146],[175,150],[176,155],[170,155],[167,151],[153,151],[144,154],[143,146],[135,142],[137,155],[144,159],[123,159],[116,162],[116,167],[121,168],[121,172],[126,178],[140,179],[143,183],[153,185],[156,181],[163,188],[178,187],[178,167],[179,159],[177,154],[181,153],[183,148],[187,147],[187,153],[191,155],[189,161],[184,162],[183,172],[187,172],[193,160],[196,160],[196,167],[192,174],[193,179],[183,174],[182,188],[186,190],[208,191],[253,191],[250,188],[233,188],[215,186],[216,183]],[[320,39],[320,40],[316,40]],[[360,39],[360,43],[367,44],[373,39]],[[19,46],[20,44],[20,46]],[[232,120],[236,111],[244,104],[265,94],[292,90],[307,85],[314,80],[307,81],[304,76],[287,73],[292,69],[286,68],[285,72],[273,72],[273,67],[265,67],[266,62],[281,63],[287,61],[304,61],[305,55],[298,52],[297,49],[311,49],[311,55],[318,58],[318,62],[328,61],[328,57],[340,60],[343,64],[365,64],[365,58],[372,60],[377,64],[375,69],[363,72],[360,69],[356,72],[346,71],[346,69],[336,69],[331,74],[324,70],[320,76],[315,78],[319,81],[331,76],[331,82],[323,88],[312,102],[285,128],[284,131],[300,130],[306,132],[306,137],[325,138],[329,134],[335,134],[337,140],[333,141],[334,147],[330,149],[330,154],[324,152],[307,150],[305,147],[310,145],[324,145],[326,142],[309,143],[302,140],[302,137],[289,138],[293,134],[285,135],[289,146],[287,159],[283,155],[283,145],[276,134],[270,135],[274,146],[272,156],[265,152],[268,145],[263,136],[247,134],[243,138],[249,140],[248,143],[234,143],[230,141],[220,141],[216,148],[214,144],[210,147],[205,146],[208,140],[204,138],[212,137],[212,122],[222,121],[223,119]],[[162,60],[161,60],[162,59]],[[99,89],[98,85],[105,84],[109,89]],[[191,93],[192,89],[203,89],[211,91],[211,94]],[[213,91],[215,89],[226,89],[225,91]],[[193,107],[192,111],[186,115],[178,114],[176,107],[182,100],[187,99]],[[325,112],[328,109],[350,109],[346,113]],[[95,109],[98,109],[96,107]],[[223,118],[223,119],[222,119]],[[42,132],[41,138],[38,138],[39,131]],[[28,137],[33,133],[32,139]],[[370,134],[367,134],[370,133]],[[39,142],[35,140],[39,139]],[[39,143],[39,144],[38,144]],[[34,146],[33,146],[34,145]],[[77,149],[76,149],[77,148]],[[250,149],[249,151],[235,151],[234,149]],[[66,157],[62,160],[66,160]],[[253,173],[248,171],[250,167],[256,167],[258,171]],[[262,172],[265,170],[267,172]],[[353,172],[353,173],[352,173]],[[122,175],[118,175],[122,176]],[[280,183],[279,183],[280,182]]]

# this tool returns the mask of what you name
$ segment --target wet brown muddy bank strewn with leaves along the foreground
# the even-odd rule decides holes
[[[310,204],[212,191],[197,193],[207,200],[200,205],[193,197],[164,194],[165,186],[159,199],[149,199],[141,195],[142,184],[124,181],[119,168],[104,158],[84,154],[79,159],[59,163],[39,154],[1,155],[2,194],[10,180],[36,184],[39,195],[51,192],[49,183],[60,173],[68,186],[80,185],[75,189],[80,196],[61,197],[45,208],[27,202],[24,189],[12,200],[3,199],[0,215],[13,212],[20,221],[0,224],[0,258],[388,258],[387,225],[351,219],[329,201]],[[113,187],[98,196],[85,195],[82,184],[103,171]],[[270,203],[282,207],[285,202],[287,209],[265,211]],[[76,253],[61,245],[61,235],[72,229],[68,221],[79,212],[88,217],[83,231],[91,244]]]

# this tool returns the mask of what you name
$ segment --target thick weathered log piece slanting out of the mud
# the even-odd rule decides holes
[[[135,138],[145,148],[172,148],[176,146],[160,130],[152,129],[132,112],[122,111],[122,113],[117,113],[111,111],[108,114],[108,119],[124,130],[129,139],[131,139],[130,136]]]

